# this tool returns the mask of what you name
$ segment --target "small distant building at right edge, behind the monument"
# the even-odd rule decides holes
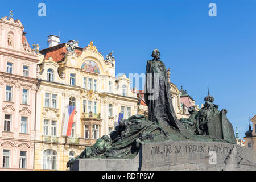
[[[243,139],[245,140],[246,147],[256,150],[256,115],[251,118],[251,122],[253,122],[253,129],[251,129],[251,124],[249,124],[249,130],[246,131]]]

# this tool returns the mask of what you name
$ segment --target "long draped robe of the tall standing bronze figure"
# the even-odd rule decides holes
[[[183,134],[187,133],[185,127],[177,119],[172,106],[168,75],[162,61],[147,61],[144,91],[150,121],[158,123],[164,131],[169,133],[172,133],[174,129]]]

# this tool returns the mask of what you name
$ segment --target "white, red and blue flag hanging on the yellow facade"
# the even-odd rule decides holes
[[[71,134],[75,110],[75,106],[67,106],[65,109],[65,118],[62,131],[63,136],[70,136]]]

